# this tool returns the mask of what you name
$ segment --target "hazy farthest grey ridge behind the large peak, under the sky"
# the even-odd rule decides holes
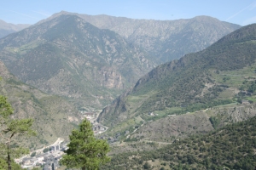
[[[209,16],[187,20],[134,20],[104,14],[94,16],[61,11],[48,20],[70,14],[77,15],[98,28],[115,31],[127,42],[153,54],[159,64],[207,48],[241,27]]]

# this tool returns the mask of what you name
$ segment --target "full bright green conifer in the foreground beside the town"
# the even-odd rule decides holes
[[[69,136],[70,143],[65,151],[67,155],[61,159],[61,164],[82,170],[99,169],[108,161],[109,145],[106,140],[96,139],[89,121],[79,124],[79,129],[73,130]]]

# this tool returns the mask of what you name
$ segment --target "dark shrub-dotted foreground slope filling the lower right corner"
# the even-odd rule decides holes
[[[176,140],[159,150],[113,156],[102,169],[254,169],[256,117],[206,135]]]

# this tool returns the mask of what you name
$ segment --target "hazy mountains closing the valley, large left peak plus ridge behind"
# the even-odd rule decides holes
[[[206,16],[160,21],[61,12],[0,39],[0,59],[22,82],[79,108],[102,108],[156,65],[239,27]]]

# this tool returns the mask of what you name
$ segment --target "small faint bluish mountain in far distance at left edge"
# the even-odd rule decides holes
[[[28,27],[30,25],[28,24],[10,24],[10,23],[6,23],[3,20],[0,20],[0,38],[5,37],[11,33],[14,33],[16,31],[20,31],[25,29],[26,27]]]

